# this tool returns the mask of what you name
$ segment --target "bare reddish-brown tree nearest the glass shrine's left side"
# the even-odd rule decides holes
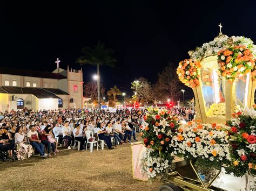
[[[162,96],[165,95],[165,98],[171,98],[173,103],[178,100],[182,84],[178,79],[176,67],[173,63],[169,63],[169,65],[158,74],[156,87],[157,91],[161,93]]]

